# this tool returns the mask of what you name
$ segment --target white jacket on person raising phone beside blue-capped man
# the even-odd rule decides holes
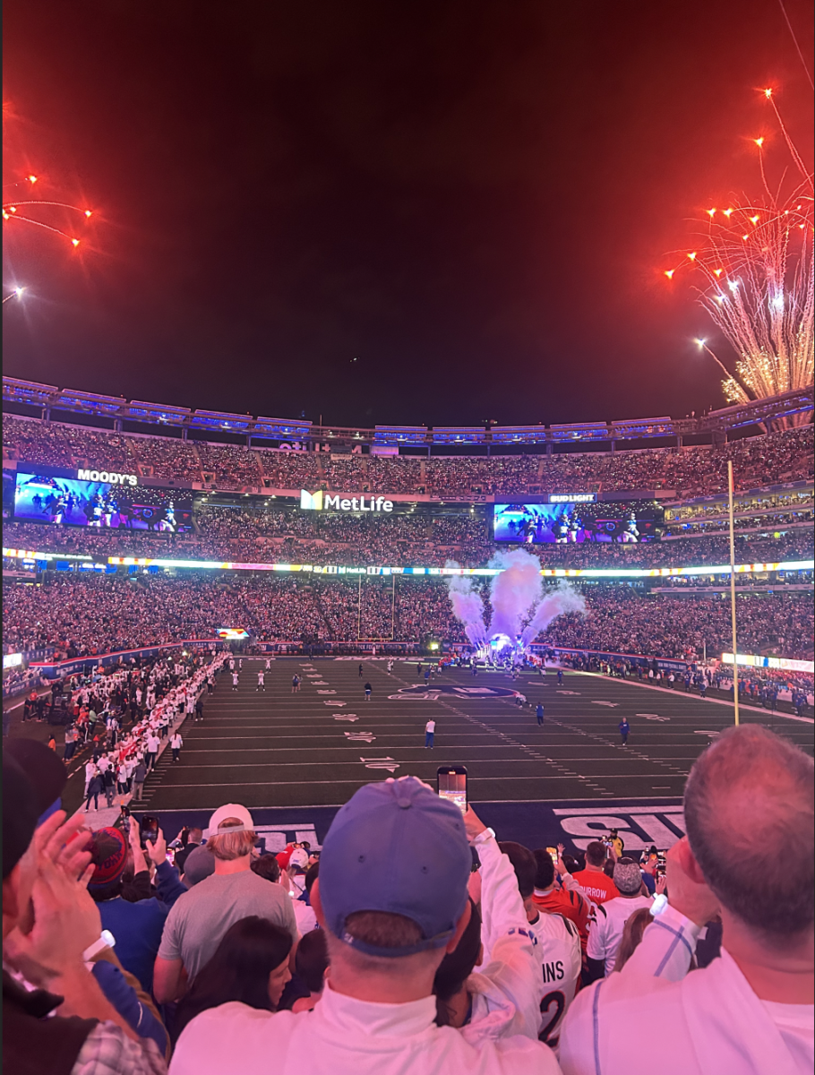
[[[537,1042],[542,994],[538,938],[527,922],[512,862],[494,836],[478,844],[478,858],[482,943],[488,962],[467,979],[473,1007],[461,1033],[473,1045],[514,1034]]]

